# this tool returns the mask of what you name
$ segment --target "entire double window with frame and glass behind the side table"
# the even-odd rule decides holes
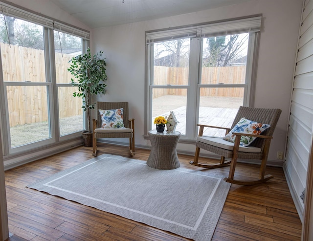
[[[253,65],[261,17],[149,31],[147,130],[174,111],[182,139],[196,124],[230,127],[239,106],[253,105]],[[204,135],[224,136],[218,129]]]

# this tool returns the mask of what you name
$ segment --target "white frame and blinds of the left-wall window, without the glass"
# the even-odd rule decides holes
[[[51,146],[54,143],[60,141],[73,139],[81,136],[81,131],[69,133],[67,135],[60,136],[59,131],[59,113],[58,113],[58,87],[59,86],[72,86],[68,84],[57,84],[55,74],[55,55],[54,55],[54,36],[53,31],[64,32],[76,37],[82,38],[82,53],[87,51],[89,46],[89,31],[80,29],[57,21],[55,19],[27,11],[19,7],[12,6],[10,4],[0,1],[0,14],[5,16],[15,17],[17,19],[32,22],[43,26],[44,29],[44,52],[45,52],[45,79],[46,82],[4,82],[2,75],[2,59],[0,58],[0,127],[2,139],[2,152],[4,156],[12,154],[27,153],[34,149],[42,148],[44,146]],[[1,49],[0,49],[1,53]],[[47,105],[48,105],[48,119],[49,119],[49,131],[50,137],[44,140],[35,141],[18,147],[11,147],[10,125],[9,125],[9,113],[7,102],[7,86],[46,86],[47,88]],[[86,130],[86,116],[84,112],[84,130]]]

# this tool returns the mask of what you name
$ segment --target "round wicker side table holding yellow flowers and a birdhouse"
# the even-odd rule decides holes
[[[181,133],[179,131],[159,133],[152,130],[148,135],[151,141],[151,152],[147,165],[162,170],[179,168],[176,146]]]

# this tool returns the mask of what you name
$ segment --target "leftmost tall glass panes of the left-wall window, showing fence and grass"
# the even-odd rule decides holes
[[[51,138],[51,85],[46,79],[43,26],[12,17],[6,20],[12,32],[5,39],[4,31],[0,48],[9,145],[15,148]]]

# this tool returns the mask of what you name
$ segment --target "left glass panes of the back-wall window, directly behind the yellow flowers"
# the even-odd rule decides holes
[[[178,39],[154,44],[152,123],[159,115],[176,110],[180,116],[180,131],[186,122],[190,39]]]

